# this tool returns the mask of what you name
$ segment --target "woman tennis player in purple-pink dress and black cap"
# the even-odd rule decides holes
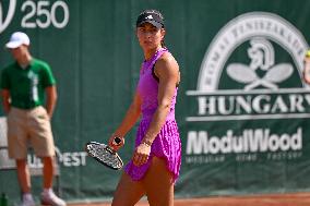
[[[144,53],[140,80],[131,106],[111,135],[126,136],[142,119],[135,150],[117,186],[112,206],[133,206],[143,195],[151,206],[172,206],[174,185],[179,177],[181,143],[175,119],[180,82],[179,65],[164,46],[164,17],[155,10],[143,11],[136,20],[136,36]],[[116,148],[118,149],[118,148]]]

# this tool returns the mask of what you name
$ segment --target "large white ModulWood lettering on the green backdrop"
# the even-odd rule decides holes
[[[228,154],[261,153],[278,150],[300,150],[302,148],[302,129],[294,134],[275,134],[269,129],[243,130],[241,135],[226,131],[222,137],[210,136],[205,131],[188,133],[187,154]]]

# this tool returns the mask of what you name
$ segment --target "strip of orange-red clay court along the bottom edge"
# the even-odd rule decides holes
[[[70,204],[70,206],[108,206],[110,203]],[[175,206],[310,206],[310,193],[251,195],[234,197],[207,197],[176,199]],[[139,202],[136,206],[148,206],[146,202]]]

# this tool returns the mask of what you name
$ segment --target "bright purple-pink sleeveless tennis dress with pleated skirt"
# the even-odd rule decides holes
[[[144,61],[140,72],[140,80],[138,84],[138,92],[142,98],[142,120],[140,122],[135,147],[140,145],[145,132],[147,131],[152,121],[153,114],[157,109],[158,101],[158,81],[154,76],[154,64],[162,57],[164,52],[169,52],[166,48],[159,49],[150,60]],[[175,105],[177,97],[176,87],[175,96],[172,98],[170,112],[166,118],[160,132],[157,134],[151,147],[151,154],[146,163],[138,167],[130,160],[124,167],[124,171],[131,177],[132,180],[141,180],[151,166],[154,156],[166,159],[166,167],[168,171],[174,174],[174,180],[179,177],[181,166],[181,141],[178,132],[177,122],[175,119]]]

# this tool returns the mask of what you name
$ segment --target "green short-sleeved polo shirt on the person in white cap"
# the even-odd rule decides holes
[[[37,59],[32,59],[25,69],[14,62],[1,73],[1,88],[10,90],[11,106],[21,109],[43,106],[45,88],[55,84],[49,65]]]

